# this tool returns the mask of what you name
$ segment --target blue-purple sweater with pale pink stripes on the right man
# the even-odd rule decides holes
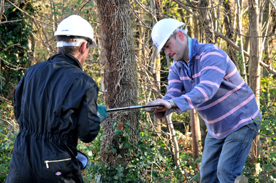
[[[254,93],[229,56],[213,44],[190,38],[189,43],[190,65],[173,61],[163,100],[173,99],[179,113],[195,108],[216,139],[253,123],[253,119],[261,120]],[[170,112],[156,116],[162,118]]]

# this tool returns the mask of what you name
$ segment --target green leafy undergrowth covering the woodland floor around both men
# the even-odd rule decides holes
[[[0,182],[5,182],[8,175],[9,162],[12,156],[13,143],[18,132],[11,103],[2,101],[0,111]],[[263,121],[260,126],[260,139],[262,147],[259,148],[261,156],[258,158],[260,163],[259,174],[256,174],[255,168],[245,163],[242,174],[249,178],[249,182],[276,182],[276,134],[275,110],[265,105],[261,108]],[[176,114],[177,115],[177,114]],[[147,123],[145,114],[139,116],[141,124]],[[174,116],[174,121],[183,120]],[[128,130],[126,124],[125,130]],[[141,125],[137,133],[140,135],[139,142],[134,145],[127,142],[127,138],[116,131],[114,124],[114,133],[122,140],[124,147],[129,150],[135,149],[136,156],[128,163],[126,167],[118,164],[116,167],[101,165],[100,148],[103,143],[102,130],[97,138],[91,143],[79,142],[77,148],[89,157],[89,164],[82,172],[85,182],[199,182],[200,173],[196,168],[196,163],[201,162],[202,147],[199,146],[200,158],[194,161],[192,158],[191,136],[185,135],[181,130],[176,130],[176,137],[179,145],[180,166],[174,163],[172,153],[173,143],[167,134],[153,133]],[[186,124],[188,129],[188,124]],[[162,130],[167,132],[163,126]],[[200,143],[199,143],[200,144]],[[116,148],[113,148],[116,153]]]

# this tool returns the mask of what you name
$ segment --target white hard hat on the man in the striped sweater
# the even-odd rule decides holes
[[[164,44],[168,41],[168,39],[173,35],[173,33],[178,29],[182,30],[182,26],[185,23],[180,22],[173,18],[165,18],[158,21],[152,28],[151,39],[155,46],[158,48],[158,54],[163,48]],[[187,34],[187,29],[182,30],[184,34]]]

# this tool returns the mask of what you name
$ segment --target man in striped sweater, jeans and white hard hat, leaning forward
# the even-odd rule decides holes
[[[148,103],[161,103],[164,107],[146,111],[163,118],[174,109],[182,113],[195,108],[208,128],[201,182],[234,182],[257,135],[259,125],[254,120],[260,121],[261,113],[252,89],[229,56],[213,44],[189,38],[184,25],[168,18],[152,29],[158,53],[163,49],[174,60],[166,95]]]

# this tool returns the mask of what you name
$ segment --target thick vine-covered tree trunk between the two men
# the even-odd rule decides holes
[[[108,108],[135,105],[137,75],[129,2],[97,1],[97,6],[102,31],[101,52],[105,59],[105,105]],[[135,149],[125,148],[124,144],[133,144],[135,147],[139,138],[135,132],[139,129],[136,111],[109,113],[102,129],[102,164],[115,167],[121,163],[125,167],[134,156]]]

